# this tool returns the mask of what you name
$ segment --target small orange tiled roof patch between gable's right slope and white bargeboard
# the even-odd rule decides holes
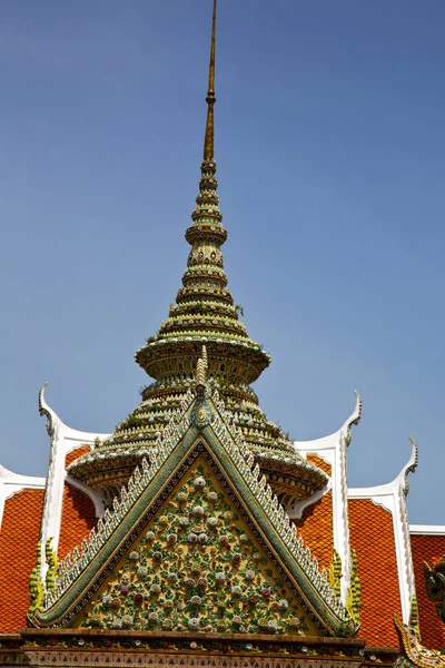
[[[328,568],[334,556],[332,491],[306,508],[301,519],[294,520],[294,523],[297,527],[297,533],[303,537],[305,544],[310,548],[320,567]]]

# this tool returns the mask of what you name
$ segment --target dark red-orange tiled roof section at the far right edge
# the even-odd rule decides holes
[[[434,566],[445,554],[445,536],[412,536],[414,576],[422,642],[426,647],[445,647],[445,625],[436,615],[425,588],[424,561]]]

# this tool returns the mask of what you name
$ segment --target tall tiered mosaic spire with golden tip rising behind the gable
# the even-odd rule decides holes
[[[142,391],[142,403],[117,426],[93,453],[79,458],[70,474],[109,494],[117,493],[135,465],[150,450],[184,395],[196,385],[197,362],[206,346],[207,377],[218,386],[233,423],[258,458],[286,505],[320,489],[326,477],[295,452],[280,429],[268,422],[249,386],[269,365],[270,357],[248,337],[227,287],[221,246],[227,239],[218,208],[214,159],[216,0],[210,41],[207,121],[199,194],[186,239],[191,246],[176,304],[156,336],[137,351],[136,361],[155,379]]]

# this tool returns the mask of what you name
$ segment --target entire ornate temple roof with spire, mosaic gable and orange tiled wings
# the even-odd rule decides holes
[[[398,632],[400,666],[442,668],[418,631],[443,647],[445,529],[409,537],[415,443],[392,483],[348,490],[358,393],[337,432],[293,443],[249,386],[269,357],[234,306],[220,250],[215,7],[191,250],[169,317],[136,354],[155,382],[111,435],[68,428],[42,387],[47,480],[0,469],[0,632],[14,633],[0,662],[386,668]],[[38,628],[20,631],[27,621]]]

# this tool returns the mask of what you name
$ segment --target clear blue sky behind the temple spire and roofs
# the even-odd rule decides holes
[[[409,518],[445,524],[443,0],[219,0],[216,158],[235,301],[297,440],[364,412],[349,484],[417,439]],[[186,266],[210,0],[2,0],[0,461],[43,475],[37,393],[108,432]]]

